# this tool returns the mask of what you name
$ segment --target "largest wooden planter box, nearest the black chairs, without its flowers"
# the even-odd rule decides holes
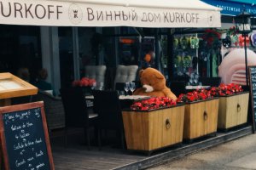
[[[122,114],[128,150],[157,150],[183,140],[184,105]]]

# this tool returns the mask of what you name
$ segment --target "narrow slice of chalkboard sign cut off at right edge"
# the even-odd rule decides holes
[[[253,115],[253,132],[255,132],[256,122],[256,65],[248,66],[249,80],[250,80],[250,96],[251,96],[251,110]]]

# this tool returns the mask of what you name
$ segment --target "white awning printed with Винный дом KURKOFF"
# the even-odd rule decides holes
[[[199,0],[0,0],[0,24],[220,27],[220,8]]]

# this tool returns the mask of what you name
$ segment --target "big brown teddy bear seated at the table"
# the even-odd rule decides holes
[[[143,88],[137,88],[134,95],[148,95],[177,99],[171,89],[166,87],[166,78],[162,73],[160,73],[160,71],[157,71],[154,68],[147,68],[139,71],[139,77]]]

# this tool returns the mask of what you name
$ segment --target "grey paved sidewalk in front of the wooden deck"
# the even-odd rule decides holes
[[[219,144],[148,170],[256,170],[256,134]]]

